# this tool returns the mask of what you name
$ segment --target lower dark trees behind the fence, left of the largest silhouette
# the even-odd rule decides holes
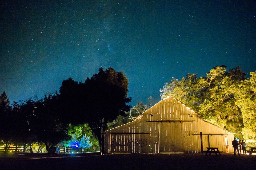
[[[32,148],[36,142],[44,143],[48,151],[50,146],[68,139],[68,126],[58,120],[55,100],[56,96],[49,94],[41,100],[29,99],[21,104],[14,102],[11,108],[7,95],[1,95],[0,103],[5,106],[1,106],[1,118],[5,121],[1,122],[0,140],[5,144],[5,151],[11,143],[15,150],[22,145],[25,151],[27,145]]]

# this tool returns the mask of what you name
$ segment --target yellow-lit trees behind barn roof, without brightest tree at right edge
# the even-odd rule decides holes
[[[226,72],[226,66],[217,66],[206,73],[206,77],[187,74],[181,80],[172,78],[160,90],[160,96],[174,96],[199,113],[200,118],[226,128],[242,139],[243,116],[235,96],[243,80],[245,73],[240,67]]]

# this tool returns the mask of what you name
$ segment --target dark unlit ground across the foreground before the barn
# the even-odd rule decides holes
[[[256,155],[197,154],[4,154],[0,169],[254,169]]]

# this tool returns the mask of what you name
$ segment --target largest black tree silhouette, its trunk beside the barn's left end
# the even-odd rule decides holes
[[[88,123],[99,140],[100,150],[104,151],[102,132],[107,128],[107,122],[113,121],[118,115],[125,115],[131,101],[127,97],[128,79],[123,72],[117,72],[109,67],[104,71],[87,78],[85,83],[72,79],[62,82],[58,97],[59,113],[63,122],[72,124]]]

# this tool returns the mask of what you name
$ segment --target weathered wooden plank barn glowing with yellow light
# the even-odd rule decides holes
[[[206,147],[234,152],[232,132],[198,118],[172,96],[104,135],[105,153],[197,153]]]

